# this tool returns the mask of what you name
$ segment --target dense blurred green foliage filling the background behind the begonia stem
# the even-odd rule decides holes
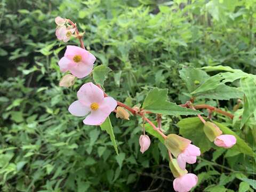
[[[196,103],[233,113],[233,121],[212,117],[224,133],[240,138],[230,150],[214,147],[195,117],[164,116],[163,129],[205,152],[188,167],[199,177],[195,191],[253,191],[256,91],[249,74],[256,67],[255,5],[254,0],[3,0],[1,190],[173,191],[162,142],[151,137],[149,150],[139,152],[141,119],[110,116],[117,156],[106,132],[68,113],[79,86],[91,80],[78,80],[71,89],[58,86],[57,63],[66,46],[54,34],[59,15],[85,31],[96,65],[113,70],[105,81],[111,97],[134,106],[153,87],[167,88],[171,102],[193,96]]]

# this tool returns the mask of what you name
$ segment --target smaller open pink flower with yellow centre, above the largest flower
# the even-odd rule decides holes
[[[67,50],[59,61],[60,71],[70,73],[77,78],[83,78],[92,72],[94,55],[81,47],[68,45]]]

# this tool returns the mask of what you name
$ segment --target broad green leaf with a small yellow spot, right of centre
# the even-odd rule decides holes
[[[195,91],[199,85],[210,77],[205,71],[194,67],[184,67],[179,70],[179,73],[189,92]]]

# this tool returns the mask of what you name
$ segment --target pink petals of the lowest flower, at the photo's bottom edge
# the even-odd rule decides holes
[[[193,173],[182,175],[173,181],[173,188],[178,192],[188,192],[196,186],[198,178]]]

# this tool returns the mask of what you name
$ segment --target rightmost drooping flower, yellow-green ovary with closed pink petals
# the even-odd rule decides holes
[[[204,133],[218,147],[231,148],[236,144],[236,137],[234,135],[222,134],[220,128],[212,122],[204,123]]]

